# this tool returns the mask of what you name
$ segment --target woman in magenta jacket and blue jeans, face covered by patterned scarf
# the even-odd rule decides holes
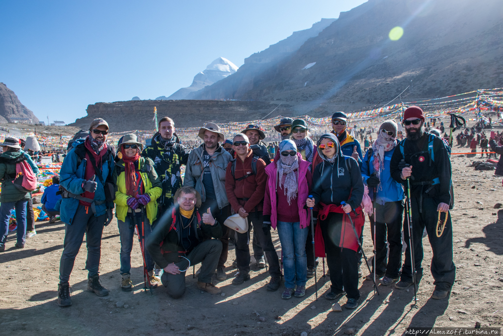
[[[264,224],[278,228],[286,287],[281,297],[286,300],[292,295],[303,297],[306,292],[305,246],[309,219],[304,205],[312,185],[312,175],[308,169],[310,163],[297,153],[293,141],[283,140],[279,153],[279,160],[266,167],[263,216]]]

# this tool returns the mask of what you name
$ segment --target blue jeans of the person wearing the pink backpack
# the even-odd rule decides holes
[[[18,244],[25,246],[26,243],[26,204],[28,200],[15,202],[2,202],[0,204],[0,247],[5,246],[9,234],[9,215],[12,209],[16,209],[16,223],[18,228]]]

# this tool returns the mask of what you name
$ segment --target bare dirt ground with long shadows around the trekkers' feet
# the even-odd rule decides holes
[[[453,152],[463,149],[454,148]],[[226,281],[214,283],[225,296],[212,296],[195,287],[197,279],[188,272],[186,294],[178,300],[167,296],[163,287],[145,293],[140,249],[135,242],[132,253],[132,292],[120,289],[119,232],[112,222],[103,233],[101,280],[110,295],[100,298],[87,292],[87,271],[83,270],[86,246],[82,244],[70,285],[73,305],[56,304],[59,259],[63,247],[64,225],[61,222],[37,223],[37,235],[29,238],[24,249],[14,248],[10,234],[6,252],[0,254],[0,335],[309,335],[343,334],[354,328],[365,336],[401,335],[408,326],[500,327],[503,322],[503,203],[501,177],[493,171],[475,171],[467,167],[473,159],[452,156],[455,209],[453,219],[454,263],[456,282],[448,298],[431,299],[433,278],[428,265],[432,257],[428,238],[425,246],[424,278],[413,306],[413,289],[398,290],[379,286],[374,295],[372,282],[360,280],[360,305],[356,310],[344,308],[332,312],[333,301],[323,294],[329,288],[323,278],[321,263],[317,268],[318,301],[315,301],[314,278],[307,283],[304,298],[282,300],[281,292],[268,292],[266,270],[252,266],[251,280],[242,286],[231,281],[236,273],[229,252]],[[365,227],[365,252],[372,255],[368,221]],[[273,238],[280,251],[278,235]],[[250,246],[251,248],[251,246]],[[253,263],[252,258],[252,263]],[[196,266],[197,270],[198,266]],[[364,270],[367,274],[368,271]],[[117,303],[124,304],[117,308]],[[265,321],[260,321],[264,317]]]

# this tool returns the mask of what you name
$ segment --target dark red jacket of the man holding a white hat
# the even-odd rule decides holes
[[[236,214],[241,207],[244,208],[248,214],[254,212],[256,208],[257,211],[262,211],[267,181],[265,172],[266,163],[262,159],[259,159],[257,161],[257,175],[254,175],[251,170],[251,161],[253,160],[252,150],[248,149],[248,154],[244,162],[242,162],[239,157],[235,160],[236,168],[234,170],[234,176],[232,176],[231,172],[232,161],[227,165],[227,171],[225,173],[225,191],[227,192],[227,199],[229,200],[230,206]],[[236,181],[236,179],[244,175],[249,176],[240,181]],[[248,199],[244,200],[238,198]]]

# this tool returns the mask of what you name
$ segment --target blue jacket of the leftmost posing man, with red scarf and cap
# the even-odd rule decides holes
[[[105,150],[105,149],[104,149]],[[86,182],[84,179],[86,172],[86,165],[88,164],[87,159],[85,158],[86,147],[84,144],[84,140],[77,140],[72,144],[72,149],[68,152],[65,159],[63,160],[63,164],[61,165],[61,170],[59,172],[60,181],[59,184],[73,194],[80,195],[84,192],[82,188],[82,183]],[[79,154],[77,154],[79,153]],[[82,158],[83,159],[80,159]],[[112,179],[113,167],[115,165],[113,155],[107,155],[103,158],[103,166],[102,166],[102,178],[103,181],[107,179]],[[89,162],[91,164],[91,162]],[[96,177],[96,181],[98,182],[98,187],[95,191],[95,201],[103,201],[105,202],[105,188],[103,184],[99,180],[98,176]],[[70,225],[73,222],[73,217],[75,216],[75,212],[78,208],[78,199],[68,197],[61,198],[61,202],[56,204],[55,210],[58,211],[61,216],[61,221]],[[99,217],[105,215],[107,212],[107,208],[113,209],[114,204],[111,202],[110,204],[103,203],[101,205],[96,206],[96,214],[95,217]]]

